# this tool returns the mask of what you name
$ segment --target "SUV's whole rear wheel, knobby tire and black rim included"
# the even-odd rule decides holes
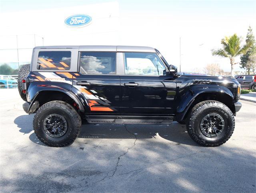
[[[79,135],[81,118],[70,104],[55,100],[37,110],[33,126],[41,142],[51,147],[64,147]]]

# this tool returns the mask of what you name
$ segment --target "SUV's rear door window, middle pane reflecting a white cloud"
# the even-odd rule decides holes
[[[81,52],[81,74],[116,74],[116,52]]]

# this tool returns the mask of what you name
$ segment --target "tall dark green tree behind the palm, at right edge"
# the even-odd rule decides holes
[[[249,50],[245,54],[241,55],[240,68],[243,68],[243,69],[247,68],[248,74],[250,74],[251,68],[247,66],[247,63],[248,63],[249,56],[252,54],[253,50],[256,49],[256,41],[255,41],[254,34],[252,33],[251,26],[249,26],[248,32],[246,35],[246,44],[248,43],[249,44],[251,43],[252,46],[249,48]]]

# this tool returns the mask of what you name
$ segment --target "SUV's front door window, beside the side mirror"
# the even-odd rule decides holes
[[[124,53],[126,75],[163,75],[165,67],[156,53]]]

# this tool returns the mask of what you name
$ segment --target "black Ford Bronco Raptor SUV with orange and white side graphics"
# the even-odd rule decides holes
[[[232,135],[242,104],[231,77],[178,73],[157,49],[45,46],[18,77],[24,110],[44,144],[72,144],[81,124],[186,124],[202,146]]]

